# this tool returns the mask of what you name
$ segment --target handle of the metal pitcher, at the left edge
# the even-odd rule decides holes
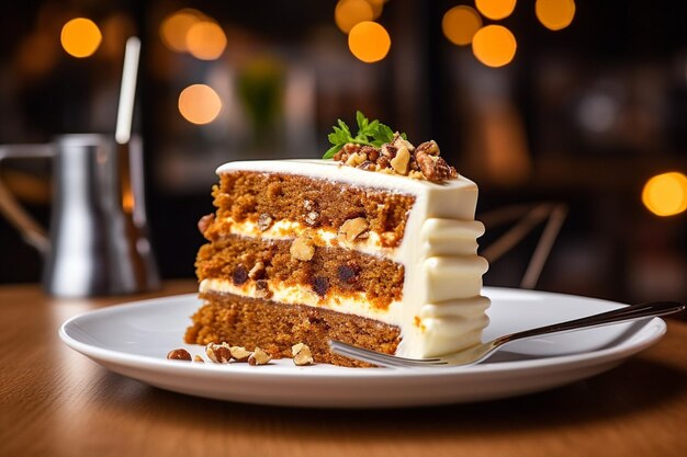
[[[0,145],[0,165],[3,159],[49,159],[55,156],[52,144]],[[43,255],[49,250],[45,229],[16,202],[0,179],[0,213],[19,230],[24,241]]]

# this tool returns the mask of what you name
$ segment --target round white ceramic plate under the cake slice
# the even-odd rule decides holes
[[[623,305],[540,292],[485,288],[492,299],[484,339]],[[137,301],[69,319],[63,341],[102,366],[156,386],[199,397],[311,408],[386,408],[444,404],[511,397],[584,379],[620,364],[665,333],[658,318],[511,343],[470,367],[391,369],[297,367],[291,359],[267,366],[166,359],[183,344],[195,295]]]

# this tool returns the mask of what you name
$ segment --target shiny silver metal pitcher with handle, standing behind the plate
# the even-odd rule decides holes
[[[49,236],[0,182],[0,212],[45,259],[43,287],[69,297],[150,290],[159,275],[144,199],[142,141],[74,134],[46,145],[0,145],[2,159],[53,160]]]

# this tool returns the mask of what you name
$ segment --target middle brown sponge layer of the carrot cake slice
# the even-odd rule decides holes
[[[295,249],[292,240],[224,236],[200,249],[196,275],[221,292],[329,308],[358,300],[386,310],[402,299],[404,267],[398,263],[316,244],[304,244],[307,252],[299,258]]]

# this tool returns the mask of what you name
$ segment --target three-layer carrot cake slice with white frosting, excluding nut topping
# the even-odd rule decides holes
[[[454,171],[454,170],[453,170]],[[334,160],[229,162],[199,225],[204,305],[189,343],[229,342],[319,363],[338,339],[408,357],[480,340],[489,301],[476,254],[477,186],[370,172]]]

